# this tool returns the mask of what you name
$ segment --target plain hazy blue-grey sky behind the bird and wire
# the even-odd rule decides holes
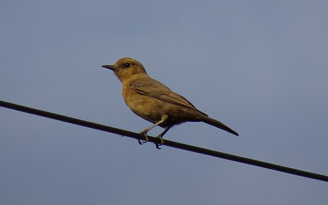
[[[121,57],[240,137],[165,139],[328,175],[327,1],[1,1],[0,100],[149,127]],[[0,108],[0,204],[327,204],[328,184]],[[156,136],[161,128],[149,134]]]

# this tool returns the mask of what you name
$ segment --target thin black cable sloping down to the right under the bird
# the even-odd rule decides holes
[[[92,129],[96,129],[96,130],[101,130],[101,131],[105,131],[105,132],[110,132],[110,133],[114,133],[114,134],[118,134],[118,135],[124,135],[124,136],[135,138],[135,139],[145,140],[145,135],[142,135],[142,134],[130,132],[127,130],[121,130],[118,128],[113,128],[113,127],[109,127],[109,126],[105,126],[105,125],[100,125],[100,124],[96,124],[94,122],[76,119],[73,117],[59,115],[59,114],[55,114],[55,113],[51,113],[51,112],[47,112],[47,111],[43,111],[43,110],[20,106],[20,105],[8,103],[8,102],[2,101],[2,100],[0,100],[0,106],[4,107],[4,108],[9,108],[9,109],[13,109],[13,110],[21,111],[21,112],[34,114],[34,115],[48,117],[48,118],[59,120],[59,121],[68,122],[68,123],[71,123],[74,125],[79,125],[79,126],[92,128]],[[154,143],[156,142],[158,144],[160,143],[160,140],[158,138],[151,137],[151,136],[149,136],[149,141],[154,142]],[[298,176],[302,176],[302,177],[317,179],[317,180],[321,180],[321,181],[328,181],[328,176],[325,176],[325,175],[316,174],[316,173],[312,173],[312,172],[306,172],[306,171],[297,170],[297,169],[293,169],[293,168],[289,168],[289,167],[283,167],[280,165],[275,165],[273,163],[245,158],[245,157],[227,154],[227,153],[223,153],[223,152],[217,152],[214,150],[199,148],[199,147],[195,147],[195,146],[191,146],[191,145],[181,144],[181,143],[175,142],[175,141],[165,140],[165,144],[163,144],[163,146],[169,146],[169,147],[173,147],[173,148],[177,148],[177,149],[181,149],[181,150],[196,152],[199,154],[228,159],[228,160],[237,161],[237,162],[241,162],[241,163],[246,163],[248,165],[276,170],[279,172],[285,172],[285,173],[294,174],[294,175],[298,175]]]

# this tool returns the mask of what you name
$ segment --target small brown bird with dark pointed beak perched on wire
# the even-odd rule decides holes
[[[114,71],[122,83],[122,95],[128,107],[138,116],[154,123],[151,127],[143,130],[148,141],[147,132],[156,126],[165,128],[157,138],[164,143],[163,135],[174,125],[179,125],[186,121],[205,122],[234,135],[237,132],[222,124],[207,114],[199,111],[186,98],[173,92],[164,84],[149,77],[144,66],[137,60],[124,57],[119,59],[114,65],[104,65]],[[139,140],[139,144],[141,144]],[[158,145],[156,144],[158,148]]]

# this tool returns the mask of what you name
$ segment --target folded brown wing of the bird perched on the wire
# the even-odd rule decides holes
[[[190,108],[207,116],[207,114],[199,111],[192,103],[190,103],[188,99],[173,92],[170,88],[152,78],[134,80],[129,86],[139,94],[154,97],[178,106]]]

